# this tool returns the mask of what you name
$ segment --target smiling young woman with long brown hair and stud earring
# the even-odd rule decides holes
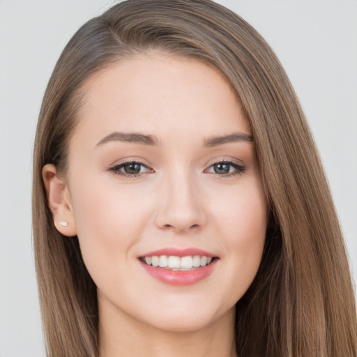
[[[294,90],[211,1],[125,1],[73,36],[40,112],[33,229],[49,356],[357,354]]]

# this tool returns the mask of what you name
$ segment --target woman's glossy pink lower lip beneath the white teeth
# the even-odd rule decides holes
[[[195,284],[196,282],[207,278],[208,275],[211,275],[217,261],[218,259],[214,259],[211,264],[192,269],[191,271],[171,271],[165,268],[155,268],[151,265],[143,263],[142,261],[140,261],[140,264],[142,264],[146,273],[149,273],[153,278],[159,280],[160,282],[164,282],[169,285],[185,286]]]

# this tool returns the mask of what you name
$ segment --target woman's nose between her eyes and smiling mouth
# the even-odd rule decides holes
[[[167,179],[160,188],[155,217],[160,229],[183,233],[204,227],[204,196],[189,174]]]

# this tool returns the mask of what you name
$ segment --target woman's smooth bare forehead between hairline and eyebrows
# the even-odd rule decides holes
[[[84,91],[76,132],[88,138],[113,131],[162,135],[164,141],[172,135],[251,133],[227,79],[195,59],[164,54],[125,59],[96,73]]]

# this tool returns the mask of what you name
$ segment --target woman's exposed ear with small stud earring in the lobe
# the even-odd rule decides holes
[[[52,164],[43,167],[42,176],[54,226],[64,236],[76,236],[77,227],[68,185],[59,177]]]

